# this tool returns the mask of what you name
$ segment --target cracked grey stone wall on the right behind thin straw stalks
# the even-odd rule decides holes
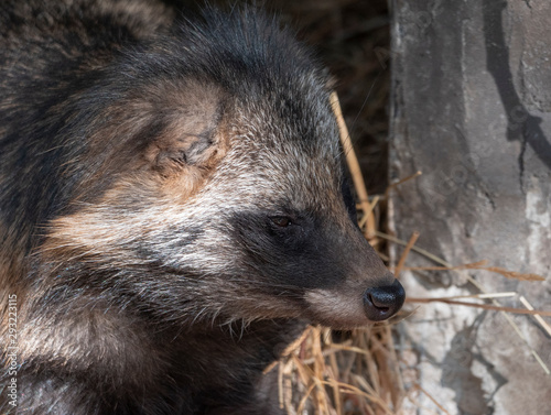
[[[391,4],[390,175],[423,172],[392,192],[391,229],[406,240],[419,230],[417,245],[454,265],[488,260],[547,279],[406,272],[408,295],[479,293],[468,275],[551,310],[551,2]],[[431,262],[412,253],[407,264]],[[499,303],[523,307],[518,295]],[[551,414],[551,376],[534,357],[551,367],[551,338],[533,317],[509,316],[527,341],[503,313],[446,304],[401,325],[421,386],[450,414]],[[439,413],[420,398],[421,414]]]

